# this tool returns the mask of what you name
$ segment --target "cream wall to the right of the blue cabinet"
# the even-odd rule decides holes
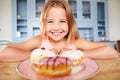
[[[110,40],[120,40],[120,0],[108,0]]]

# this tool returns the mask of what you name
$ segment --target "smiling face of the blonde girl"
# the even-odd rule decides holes
[[[45,23],[46,34],[54,41],[62,40],[68,34],[68,22],[63,8],[51,7]]]

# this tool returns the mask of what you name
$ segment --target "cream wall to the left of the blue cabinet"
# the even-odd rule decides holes
[[[0,0],[0,40],[12,40],[11,0]]]

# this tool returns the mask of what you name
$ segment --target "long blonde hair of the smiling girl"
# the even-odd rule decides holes
[[[43,11],[42,11],[41,17],[40,17],[41,18],[40,19],[41,20],[41,29],[40,29],[41,36],[42,37],[46,36],[45,21],[46,21],[47,13],[51,7],[61,7],[66,11],[68,27],[69,27],[69,32],[66,36],[67,42],[71,43],[75,39],[78,39],[79,33],[77,30],[76,21],[74,19],[74,15],[73,15],[71,7],[69,6],[69,4],[65,0],[48,0],[47,3],[44,5]]]

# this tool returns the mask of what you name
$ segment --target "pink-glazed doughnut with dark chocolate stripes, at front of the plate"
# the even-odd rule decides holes
[[[43,58],[39,61],[39,64],[33,64],[34,70],[37,74],[46,77],[61,77],[71,73],[72,60],[66,57],[49,57]]]

